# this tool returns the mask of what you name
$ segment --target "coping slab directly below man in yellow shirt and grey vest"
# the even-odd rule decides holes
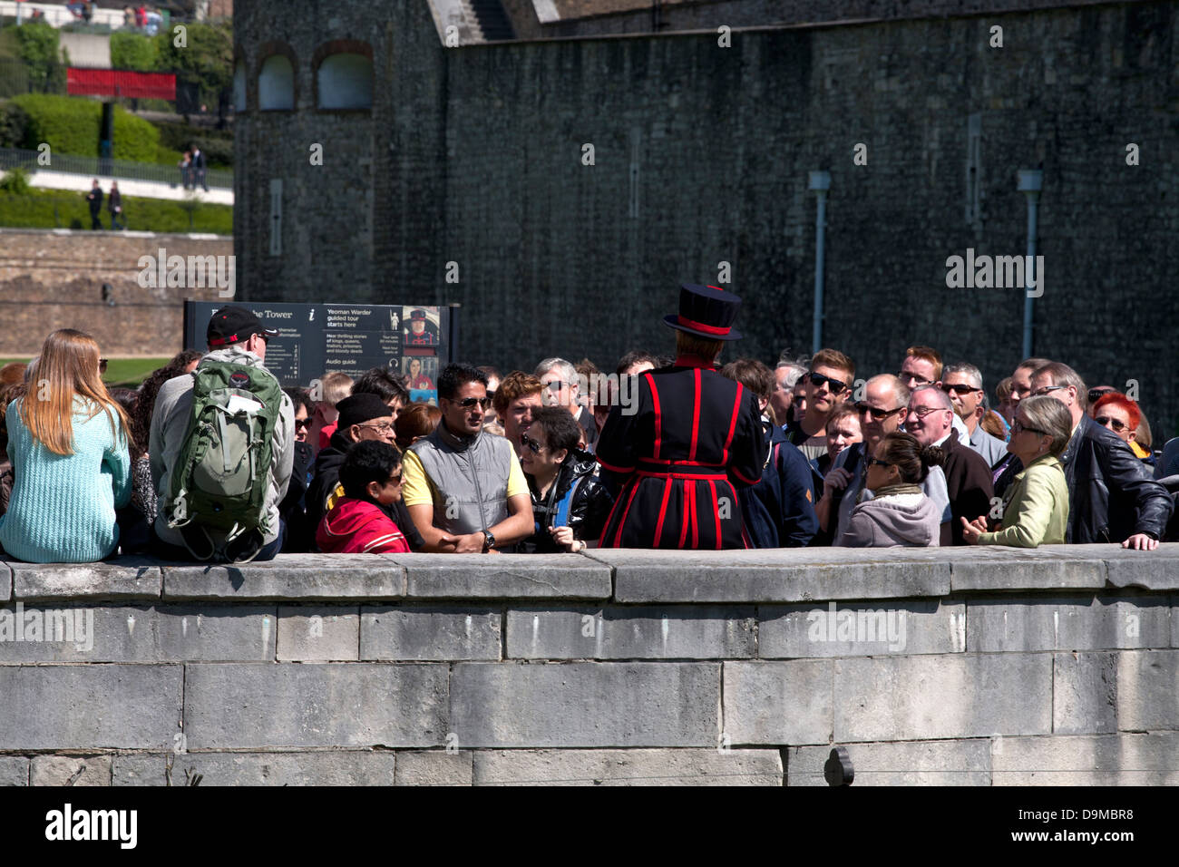
[[[399,554],[410,599],[608,599],[611,571],[571,554]]]

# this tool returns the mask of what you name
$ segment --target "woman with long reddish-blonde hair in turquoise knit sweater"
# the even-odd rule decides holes
[[[45,339],[28,390],[8,405],[15,484],[0,545],[28,563],[94,563],[118,545],[114,510],[131,499],[130,423],[103,385],[98,343]]]

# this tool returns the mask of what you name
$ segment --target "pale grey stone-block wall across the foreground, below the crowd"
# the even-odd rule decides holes
[[[1179,545],[0,563],[9,784],[1173,786],[1177,678]]]

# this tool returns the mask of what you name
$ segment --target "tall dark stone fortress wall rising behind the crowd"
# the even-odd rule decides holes
[[[660,318],[678,284],[716,282],[727,262],[746,334],[730,352],[772,361],[810,350],[806,185],[823,169],[824,343],[862,376],[935,346],[979,364],[990,388],[1020,360],[1022,293],[949,289],[946,261],[1022,255],[1016,171],[1042,168],[1034,350],[1093,385],[1137,380],[1155,435],[1173,434],[1175,5],[908,6],[930,17],[735,31],[729,48],[705,32],[449,50],[424,0],[383,17],[365,2],[330,18],[305,0],[243,7],[249,70],[283,46],[299,61],[296,111],[258,112],[251,97],[236,123],[244,297],[378,303],[411,290],[462,304],[479,363],[531,369],[560,354],[612,367],[635,346],[670,349]],[[331,40],[371,46],[371,112],[310,101],[311,59]],[[316,143],[323,165],[310,164]],[[859,143],[867,165],[852,162]]]

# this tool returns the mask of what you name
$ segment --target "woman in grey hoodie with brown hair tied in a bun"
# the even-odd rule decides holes
[[[872,499],[857,504],[836,545],[843,547],[928,547],[937,545],[942,515],[921,490],[942,449],[922,448],[917,438],[890,433],[868,459],[864,487]]]

